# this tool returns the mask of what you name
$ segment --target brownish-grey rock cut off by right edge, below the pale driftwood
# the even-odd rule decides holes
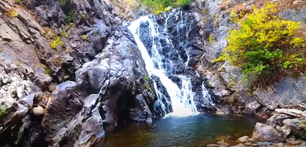
[[[298,138],[306,139],[306,130],[304,129],[306,117],[286,119],[283,121],[283,124],[291,129],[292,135]]]

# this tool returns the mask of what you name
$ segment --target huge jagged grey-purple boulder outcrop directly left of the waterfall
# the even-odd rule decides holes
[[[76,82],[57,85],[50,96],[42,126],[51,146],[63,141],[91,146],[125,121],[151,122],[155,92],[123,30],[116,32],[117,42],[109,40],[96,59],[75,72]]]

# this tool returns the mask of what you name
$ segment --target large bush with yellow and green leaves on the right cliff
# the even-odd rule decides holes
[[[229,44],[214,62],[228,60],[243,70],[244,79],[253,86],[269,86],[279,78],[305,69],[305,40],[295,37],[300,22],[281,19],[277,5],[268,2],[253,12],[232,12],[240,25],[230,30]]]

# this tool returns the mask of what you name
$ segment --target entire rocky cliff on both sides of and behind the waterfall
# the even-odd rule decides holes
[[[215,109],[199,94],[203,81],[225,112],[256,113],[304,101],[302,74],[250,94],[240,82],[240,69],[211,63],[226,47],[227,31],[235,27],[229,10],[243,3],[226,2],[195,1],[188,12],[155,17],[169,33],[160,34],[163,55],[174,63],[174,73],[192,79],[197,109]],[[146,14],[136,1],[0,0],[0,146],[91,146],[125,121],[151,122],[158,96],[126,21]],[[280,15],[301,21],[305,8],[288,7]],[[178,28],[182,20],[186,26]],[[173,47],[166,45],[167,36]],[[150,48],[152,38],[141,39]],[[167,76],[180,86],[171,74]]]

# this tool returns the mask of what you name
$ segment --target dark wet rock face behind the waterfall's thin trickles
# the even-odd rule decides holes
[[[159,16],[148,16],[146,21],[140,22],[139,31],[141,33],[139,36],[149,56],[153,59],[155,68],[165,71],[166,76],[177,84],[178,88],[189,91],[192,87],[191,91],[193,93],[175,94],[177,97],[186,95],[188,99],[193,97],[198,111],[215,110],[215,107],[212,106],[213,97],[210,97],[203,86],[203,79],[194,69],[203,54],[201,50],[203,41],[198,33],[199,27],[193,21],[194,19],[193,13],[181,11],[181,9],[175,9]],[[150,28],[152,25],[158,27]],[[152,29],[156,29],[155,31],[158,32],[156,36],[151,32]],[[192,38],[189,36],[192,36]],[[153,75],[152,79],[161,93],[160,101],[165,106],[165,112],[155,111],[155,113],[158,112],[156,115],[162,116],[163,113],[172,111],[170,94],[162,85],[158,76]],[[155,109],[162,107],[160,101],[155,103]],[[191,101],[189,100],[187,103],[191,103]]]

